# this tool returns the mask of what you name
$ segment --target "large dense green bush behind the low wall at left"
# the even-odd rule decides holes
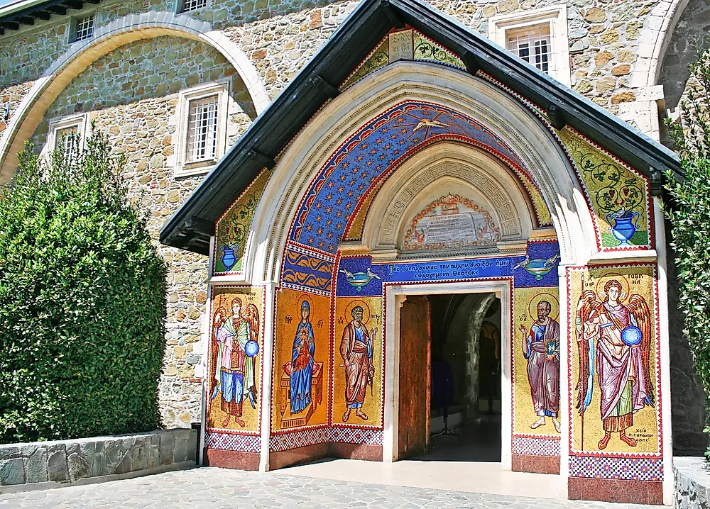
[[[0,442],[159,426],[166,267],[110,152],[28,146],[1,189]]]

